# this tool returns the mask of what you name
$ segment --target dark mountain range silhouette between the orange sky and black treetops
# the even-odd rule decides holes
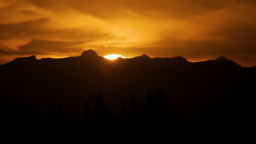
[[[15,58],[0,68],[0,93],[13,100],[24,97],[42,111],[48,105],[82,110],[86,100],[93,105],[101,92],[110,111],[119,112],[120,104],[130,103],[133,93],[143,104],[149,89],[154,93],[162,89],[172,107],[192,119],[206,93],[217,107],[230,101],[243,103],[251,99],[256,80],[255,67],[243,68],[224,57],[195,63],[181,56],[147,55],[110,61],[93,50],[60,59]]]

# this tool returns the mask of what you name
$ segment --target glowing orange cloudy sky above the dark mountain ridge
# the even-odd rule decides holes
[[[0,64],[36,55],[224,56],[256,66],[254,0],[0,0]]]

